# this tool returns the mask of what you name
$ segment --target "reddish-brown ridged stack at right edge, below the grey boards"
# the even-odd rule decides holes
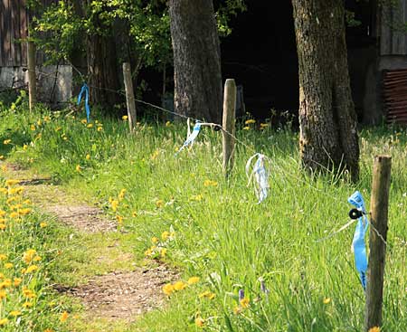
[[[385,71],[383,90],[387,122],[407,124],[407,69]]]

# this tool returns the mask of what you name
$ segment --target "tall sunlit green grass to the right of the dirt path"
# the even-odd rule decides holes
[[[350,251],[354,226],[321,239],[348,221],[346,199],[356,189],[369,206],[378,153],[393,157],[382,330],[407,330],[405,128],[361,130],[356,185],[334,173],[304,174],[298,137],[289,129],[238,129],[247,147],[237,146],[234,172],[225,179],[222,138],[208,128],[192,149],[175,157],[185,139],[184,125],[140,123],[129,135],[127,122],[119,119],[89,126],[63,112],[38,108],[29,114],[21,102],[2,111],[0,142],[11,142],[0,144],[0,155],[52,175],[116,217],[131,234],[120,241],[131,243],[136,262],[147,254],[179,267],[183,282],[200,277],[197,284],[172,292],[165,308],[118,330],[361,331],[364,291]],[[256,204],[244,175],[254,151],[271,159],[270,196],[262,204]],[[111,240],[100,241],[100,248]],[[52,269],[58,278],[73,278],[68,264]],[[239,302],[240,289],[249,299],[247,307]]]

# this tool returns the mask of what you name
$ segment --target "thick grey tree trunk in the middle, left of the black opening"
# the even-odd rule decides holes
[[[221,51],[212,0],[170,0],[175,109],[220,123]]]

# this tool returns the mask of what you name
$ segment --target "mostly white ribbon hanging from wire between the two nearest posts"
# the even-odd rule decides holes
[[[257,157],[257,160],[254,163],[251,175],[249,175],[251,162],[255,157]],[[256,180],[256,185],[254,185],[254,187],[256,190],[257,198],[259,199],[258,204],[263,202],[269,194],[269,172],[266,170],[266,167],[264,165],[266,160],[268,160],[268,157],[261,155],[260,153],[256,153],[251,156],[246,163],[246,175],[249,177],[249,185],[251,183],[251,177],[253,175]]]

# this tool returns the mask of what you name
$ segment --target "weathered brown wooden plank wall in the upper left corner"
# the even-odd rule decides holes
[[[57,0],[43,0],[47,6]],[[29,14],[24,0],[0,0],[0,67],[20,67],[27,64],[27,37]],[[37,64],[44,62],[42,52],[37,52]]]

